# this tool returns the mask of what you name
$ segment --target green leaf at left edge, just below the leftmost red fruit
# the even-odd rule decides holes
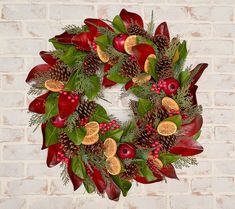
[[[45,140],[46,146],[49,147],[52,144],[57,144],[59,139],[60,129],[53,126],[51,121],[47,122],[45,130]]]

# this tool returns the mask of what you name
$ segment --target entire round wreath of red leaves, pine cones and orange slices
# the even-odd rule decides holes
[[[61,163],[62,179],[83,183],[88,193],[118,200],[135,180],[148,184],[177,179],[175,168],[197,164],[202,107],[195,85],[207,67],[184,68],[186,41],[170,39],[166,22],[144,29],[142,18],[122,9],[112,21],[88,18],[50,39],[26,82],[30,125],[41,125],[47,165]],[[107,24],[108,23],[108,24]],[[133,114],[121,124],[96,98],[123,85]]]

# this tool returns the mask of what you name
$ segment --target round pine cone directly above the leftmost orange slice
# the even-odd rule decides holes
[[[58,63],[51,68],[50,78],[58,81],[67,82],[71,75],[71,71],[67,65]]]

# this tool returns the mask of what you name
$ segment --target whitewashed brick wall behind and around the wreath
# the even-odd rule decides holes
[[[65,24],[86,17],[112,18],[125,7],[145,22],[154,10],[156,22],[169,21],[173,35],[188,40],[187,64],[210,64],[199,82],[204,105],[199,165],[179,170],[180,181],[133,184],[118,203],[97,195],[73,193],[62,185],[59,167],[45,165],[40,131],[27,128],[24,83],[41,62],[40,50]],[[118,88],[105,95],[122,120],[127,99]],[[108,106],[110,108],[110,105]],[[0,0],[0,208],[1,209],[233,209],[235,208],[235,1],[234,0]]]

